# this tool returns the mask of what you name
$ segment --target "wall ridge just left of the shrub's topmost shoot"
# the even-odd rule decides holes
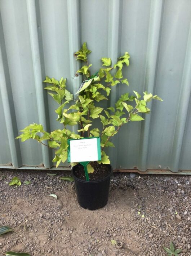
[[[74,53],[80,49],[80,6],[79,0],[67,0],[68,8],[68,38],[69,38],[69,58],[70,77],[72,81],[73,95],[80,87],[82,76],[75,76],[79,69],[79,62],[74,58]],[[77,127],[72,126],[72,131],[77,133]]]

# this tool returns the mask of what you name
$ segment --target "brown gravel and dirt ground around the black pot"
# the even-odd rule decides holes
[[[180,256],[191,255],[190,176],[114,173],[107,205],[89,211],[78,205],[74,183],[59,179],[69,172],[52,173],[0,170],[0,226],[14,229],[0,236],[0,255],[165,256],[171,241]],[[7,184],[14,176],[21,186]]]

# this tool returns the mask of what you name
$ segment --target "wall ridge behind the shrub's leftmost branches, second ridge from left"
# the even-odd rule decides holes
[[[34,70],[34,80],[35,80],[35,90],[36,90],[39,122],[43,125],[44,129],[47,130],[35,0],[27,0],[27,13],[28,13],[28,26],[29,26],[29,33],[30,33],[32,64],[33,64],[33,70]],[[50,168],[52,166],[52,163],[50,162],[49,148],[42,145],[42,154],[43,154],[44,166],[46,168]]]

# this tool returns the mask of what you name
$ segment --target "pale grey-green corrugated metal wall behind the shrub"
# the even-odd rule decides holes
[[[74,52],[84,41],[93,71],[103,56],[116,61],[128,51],[129,92],[164,100],[151,103],[145,121],[121,128],[114,168],[191,170],[190,0],[0,0],[0,164],[52,166],[46,147],[15,137],[32,122],[58,129],[42,80],[64,76],[75,93]],[[126,90],[116,87],[108,105]]]

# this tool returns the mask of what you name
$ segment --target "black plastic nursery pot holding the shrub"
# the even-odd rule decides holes
[[[75,168],[76,166],[72,168],[72,176],[74,177],[77,201],[80,206],[89,210],[97,210],[105,206],[109,196],[112,166],[110,165],[110,174],[97,181],[86,181],[77,178],[74,175]]]

